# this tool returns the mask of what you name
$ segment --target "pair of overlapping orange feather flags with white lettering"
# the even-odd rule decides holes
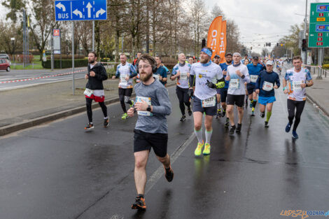
[[[213,50],[213,55],[219,55],[221,57],[221,62],[225,62],[225,50],[226,50],[226,21],[222,20],[222,16],[216,17],[213,22],[211,22],[207,46]]]

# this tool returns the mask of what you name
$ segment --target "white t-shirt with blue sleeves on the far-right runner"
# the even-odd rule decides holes
[[[288,99],[295,101],[306,100],[306,90],[300,87],[302,83],[306,83],[306,80],[311,80],[311,73],[309,69],[302,68],[300,72],[296,72],[295,68],[288,69],[284,79],[287,81],[288,86]]]

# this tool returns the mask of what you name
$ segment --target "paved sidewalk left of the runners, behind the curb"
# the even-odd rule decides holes
[[[85,111],[86,83],[75,80],[74,96],[71,80],[1,91],[0,136]],[[169,80],[168,85],[175,83]],[[118,79],[105,80],[104,92],[106,104],[118,101]]]

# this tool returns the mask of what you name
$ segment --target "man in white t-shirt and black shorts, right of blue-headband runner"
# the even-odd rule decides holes
[[[241,63],[241,55],[239,52],[233,53],[233,64],[228,66],[228,72],[225,80],[230,80],[227,98],[227,112],[228,118],[230,118],[231,122],[230,134],[235,134],[235,129],[237,129],[237,133],[240,133],[242,118],[244,117],[244,83],[249,83],[250,78],[247,67]],[[235,105],[237,106],[239,117],[237,127],[235,127]]]

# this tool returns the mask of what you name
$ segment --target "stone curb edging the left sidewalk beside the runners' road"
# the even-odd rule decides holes
[[[167,87],[172,87],[176,85],[176,83],[172,83],[170,85],[167,85]],[[132,97],[136,97],[135,93],[132,93]],[[105,104],[113,104],[119,101],[119,97],[115,97],[115,98],[111,98],[108,100],[105,100],[104,103]],[[94,103],[92,104],[92,108],[99,108],[99,104]],[[70,115],[75,115],[77,113],[81,113],[85,111],[85,106],[78,106],[76,108],[71,108],[65,111],[60,111],[57,113],[52,113],[50,115],[44,115],[41,116],[39,118],[34,118],[31,120],[27,120],[25,122],[18,122],[15,124],[11,124],[11,125],[6,125],[0,128],[0,136],[5,136],[6,134],[10,134],[13,132],[17,132],[20,131],[22,129],[27,129],[29,127],[34,127],[36,125],[41,125],[45,122],[52,122],[54,120],[58,120],[60,118],[64,118]]]

